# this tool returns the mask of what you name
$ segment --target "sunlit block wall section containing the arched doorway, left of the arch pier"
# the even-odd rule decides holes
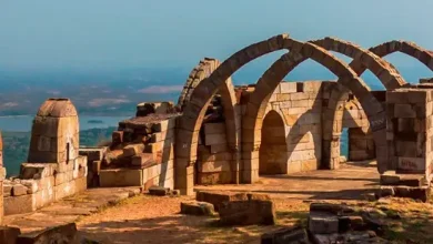
[[[252,89],[245,90],[242,95],[246,101],[241,103],[248,104],[252,92]],[[262,173],[288,174],[319,167],[322,153],[322,82],[281,82],[278,85],[269,100],[265,116],[260,121],[260,149],[252,153],[252,160],[259,161]],[[243,105],[243,113],[245,110]],[[283,130],[275,123],[266,123],[270,115],[280,116],[284,123]],[[283,143],[278,139],[281,133],[285,139]]]

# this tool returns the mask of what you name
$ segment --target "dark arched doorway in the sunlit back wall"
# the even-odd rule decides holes
[[[259,151],[259,174],[286,174],[288,145],[284,121],[275,111],[270,111],[262,125]]]

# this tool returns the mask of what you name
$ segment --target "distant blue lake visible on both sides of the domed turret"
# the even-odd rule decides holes
[[[34,116],[19,115],[19,116],[0,116],[0,131],[16,131],[28,132],[31,131],[31,125]],[[92,116],[80,115],[80,131],[93,128],[109,128],[118,126],[122,120],[129,116]]]

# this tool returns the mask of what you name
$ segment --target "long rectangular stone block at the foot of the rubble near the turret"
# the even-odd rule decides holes
[[[101,187],[141,186],[143,185],[142,170],[101,170],[99,174]]]

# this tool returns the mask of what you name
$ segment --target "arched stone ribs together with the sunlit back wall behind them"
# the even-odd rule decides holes
[[[290,52],[273,63],[255,85],[233,89],[230,77],[236,70],[263,54],[284,49]],[[345,54],[353,61],[345,64],[329,51]],[[204,118],[215,95],[221,96],[224,116],[230,118],[224,120],[225,138],[236,142],[231,146],[231,171],[236,175],[232,182],[253,183],[259,173],[266,171],[290,173],[303,169],[338,169],[343,126],[350,128],[349,157],[375,157],[381,173],[395,170],[389,163],[391,144],[386,141],[385,91],[372,92],[359,77],[369,69],[389,91],[411,87],[392,64],[381,59],[393,52],[414,57],[433,69],[432,52],[411,42],[391,41],[364,50],[334,38],[300,42],[286,34],[249,45],[223,63],[212,59],[201,61],[191,72],[180,99],[182,116],[178,120],[177,132],[183,136],[177,136],[175,187],[184,194],[192,193],[194,167],[200,169],[195,164],[202,161],[198,138],[205,126]],[[309,90],[308,82],[281,83],[306,59],[322,64],[339,80],[330,82],[329,89],[322,82],[315,90]],[[266,120],[268,115],[272,118]],[[272,131],[280,131],[276,133],[280,136],[284,134],[286,149],[279,136],[269,139]],[[289,142],[289,139],[294,142]],[[269,149],[270,141],[281,146],[280,150],[273,152]],[[270,169],[261,166],[265,159],[272,161]],[[214,165],[214,169],[220,167],[218,163]]]

